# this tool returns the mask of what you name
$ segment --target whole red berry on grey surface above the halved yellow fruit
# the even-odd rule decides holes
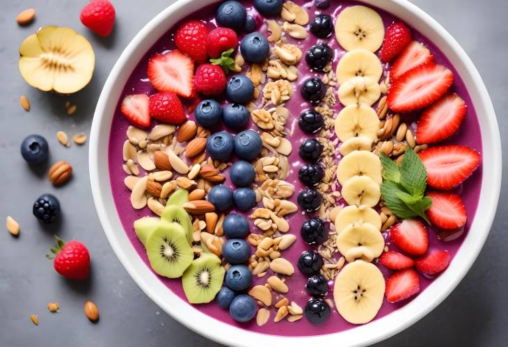
[[[92,0],[81,10],[79,19],[97,35],[107,36],[115,25],[115,8],[108,0]]]

